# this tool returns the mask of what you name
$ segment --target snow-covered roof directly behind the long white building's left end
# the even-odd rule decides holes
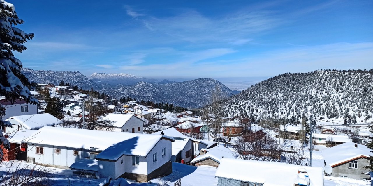
[[[15,121],[29,130],[42,128],[43,126],[59,125],[62,123],[61,120],[49,113],[12,116],[6,121]]]

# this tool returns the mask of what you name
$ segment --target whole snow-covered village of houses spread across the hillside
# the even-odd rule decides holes
[[[12,166],[69,170],[67,180],[94,180],[91,185],[199,185],[188,176],[217,186],[365,185],[371,180],[363,169],[373,155],[365,146],[373,139],[369,124],[316,123],[311,118],[258,122],[191,110],[166,112],[135,100],[92,97],[68,85],[32,89],[38,106],[1,100],[7,109],[4,118],[12,124],[2,129],[10,147],[2,148],[2,161]],[[60,119],[45,113],[53,100],[63,113]],[[268,173],[276,174],[277,181]]]

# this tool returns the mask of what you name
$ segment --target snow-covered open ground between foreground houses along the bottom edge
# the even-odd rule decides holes
[[[23,161],[16,161],[16,163],[29,165],[34,167],[33,164],[27,164]],[[0,173],[4,174],[7,171],[7,166],[10,162],[4,162],[1,164]],[[38,166],[41,167],[41,166]],[[151,180],[151,184],[148,185],[169,185],[173,186],[176,181],[181,180],[182,186],[216,186],[217,178],[215,178],[216,167],[211,166],[187,166],[181,163],[173,163],[172,173],[160,179]],[[56,186],[97,186],[104,179],[90,179],[84,177],[72,176],[72,170],[56,169],[52,168],[53,172],[48,174],[48,179],[53,181],[53,185]],[[25,171],[25,175],[29,174],[29,170]],[[4,175],[5,176],[5,175]],[[129,181],[129,183],[134,183]],[[137,185],[136,183],[131,185]],[[324,176],[325,186],[367,186],[369,182],[363,180],[354,180],[342,177],[330,177]]]

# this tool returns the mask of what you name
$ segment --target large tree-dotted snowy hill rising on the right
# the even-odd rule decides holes
[[[357,122],[373,114],[373,69],[286,73],[257,83],[224,102],[229,116],[315,115]],[[360,121],[359,121],[360,119]]]

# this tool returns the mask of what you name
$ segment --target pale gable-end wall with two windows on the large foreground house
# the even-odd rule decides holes
[[[162,157],[162,149],[166,147],[166,155]],[[153,154],[157,152],[157,161],[153,162]],[[163,166],[167,161],[171,159],[172,155],[172,146],[171,141],[169,140],[160,140],[157,145],[150,151],[148,156],[145,158],[147,161],[147,174],[150,174],[154,170],[158,169],[160,166]],[[141,159],[140,159],[141,160]]]

